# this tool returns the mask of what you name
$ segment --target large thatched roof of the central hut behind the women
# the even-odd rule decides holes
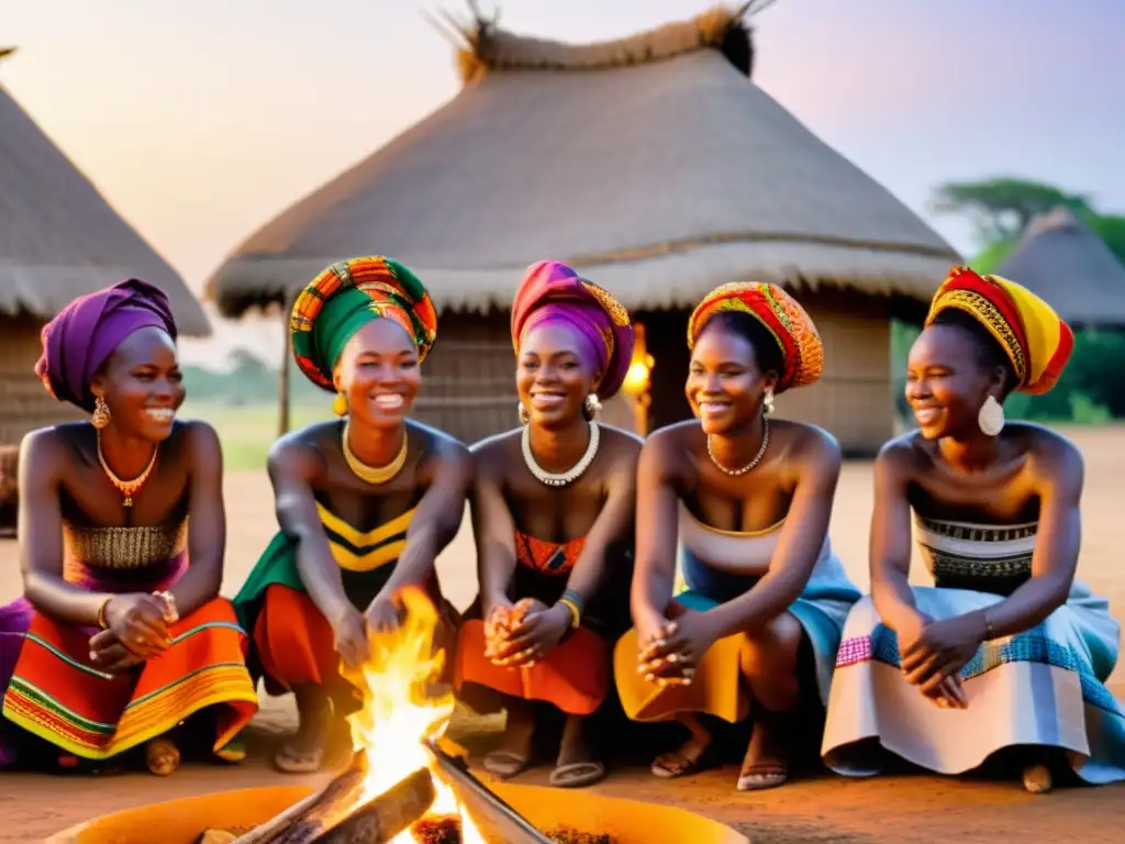
[[[958,260],[747,79],[734,12],[586,46],[465,32],[460,93],[243,243],[208,285],[224,314],[370,252],[480,311],[542,258],[630,307],[750,278],[928,300]]]

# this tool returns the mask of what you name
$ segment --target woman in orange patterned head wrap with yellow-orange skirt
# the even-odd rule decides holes
[[[770,284],[712,290],[687,343],[700,421],[655,433],[641,451],[636,629],[616,647],[618,690],[630,718],[675,718],[691,731],[652,763],[663,778],[700,765],[712,735],[699,713],[736,722],[753,703],[738,789],[773,788],[789,776],[803,703],[828,698],[860,594],[828,541],[839,447],[818,428],[770,419],[775,395],[820,377],[824,352],[808,314]]]

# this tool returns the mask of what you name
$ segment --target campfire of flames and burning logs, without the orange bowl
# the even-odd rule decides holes
[[[348,770],[315,794],[235,837],[233,844],[552,844],[609,836],[552,830],[548,837],[442,748],[453,694],[439,685],[446,654],[434,650],[438,610],[420,590],[402,593],[403,626],[371,638],[371,657],[348,680],[363,704],[349,717]],[[208,837],[209,836],[209,837]]]

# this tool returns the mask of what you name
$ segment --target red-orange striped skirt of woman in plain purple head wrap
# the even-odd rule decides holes
[[[151,580],[144,584],[135,578],[118,583],[109,573],[81,566],[71,566],[68,580],[99,592],[153,591],[173,583],[184,566],[184,559],[152,566],[160,571],[145,572]],[[246,636],[225,599],[172,625],[171,646],[126,674],[107,674],[91,664],[89,641],[96,632],[54,621],[22,599],[0,608],[0,683],[9,725],[75,756],[106,760],[207,707],[216,710],[218,751],[258,711],[245,664]],[[6,751],[0,736],[0,757],[6,754],[12,761],[10,744]]]

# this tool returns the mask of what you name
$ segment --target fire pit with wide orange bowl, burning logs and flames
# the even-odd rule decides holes
[[[92,820],[62,844],[748,844],[682,809],[573,791],[489,788],[442,746],[453,712],[436,685],[438,611],[420,590],[399,593],[402,627],[371,637],[371,658],[349,680],[362,693],[350,716],[352,764],[320,791],[263,788],[176,800]],[[159,832],[156,832],[159,830]],[[202,838],[206,841],[207,838]]]

